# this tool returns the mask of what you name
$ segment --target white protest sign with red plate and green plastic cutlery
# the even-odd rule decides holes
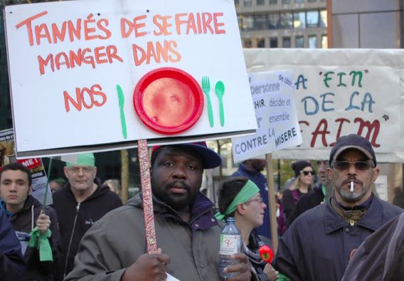
[[[59,1],[5,20],[18,157],[257,128],[233,1]]]

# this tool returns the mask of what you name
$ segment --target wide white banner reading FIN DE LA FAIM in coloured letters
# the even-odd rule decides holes
[[[369,139],[378,161],[404,162],[404,51],[245,50],[250,72],[292,68],[303,142],[274,158],[327,159],[342,135]]]

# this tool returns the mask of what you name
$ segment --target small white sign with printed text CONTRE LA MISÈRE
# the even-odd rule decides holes
[[[302,143],[292,70],[250,73],[249,79],[258,129],[231,140],[235,163]]]

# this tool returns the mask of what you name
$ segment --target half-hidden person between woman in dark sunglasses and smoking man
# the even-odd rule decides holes
[[[319,179],[320,183],[317,186],[303,194],[302,197],[299,198],[296,205],[294,206],[292,212],[289,215],[289,219],[287,220],[287,226],[290,226],[293,221],[300,216],[305,211],[314,208],[315,206],[324,203],[327,199],[329,199],[332,195],[331,184],[329,182],[329,178],[326,174],[327,164],[326,161],[317,161],[319,164]]]

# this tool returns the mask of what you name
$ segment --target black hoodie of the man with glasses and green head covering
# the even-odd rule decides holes
[[[65,275],[73,270],[74,258],[84,233],[106,213],[122,206],[119,196],[110,191],[108,186],[102,186],[100,179],[95,178],[94,182],[97,184],[97,189],[81,203],[76,201],[70,190],[70,184],[53,193],[53,208],[58,213],[60,235],[63,241],[64,259],[62,266]],[[68,255],[67,265],[65,264],[66,255]]]

